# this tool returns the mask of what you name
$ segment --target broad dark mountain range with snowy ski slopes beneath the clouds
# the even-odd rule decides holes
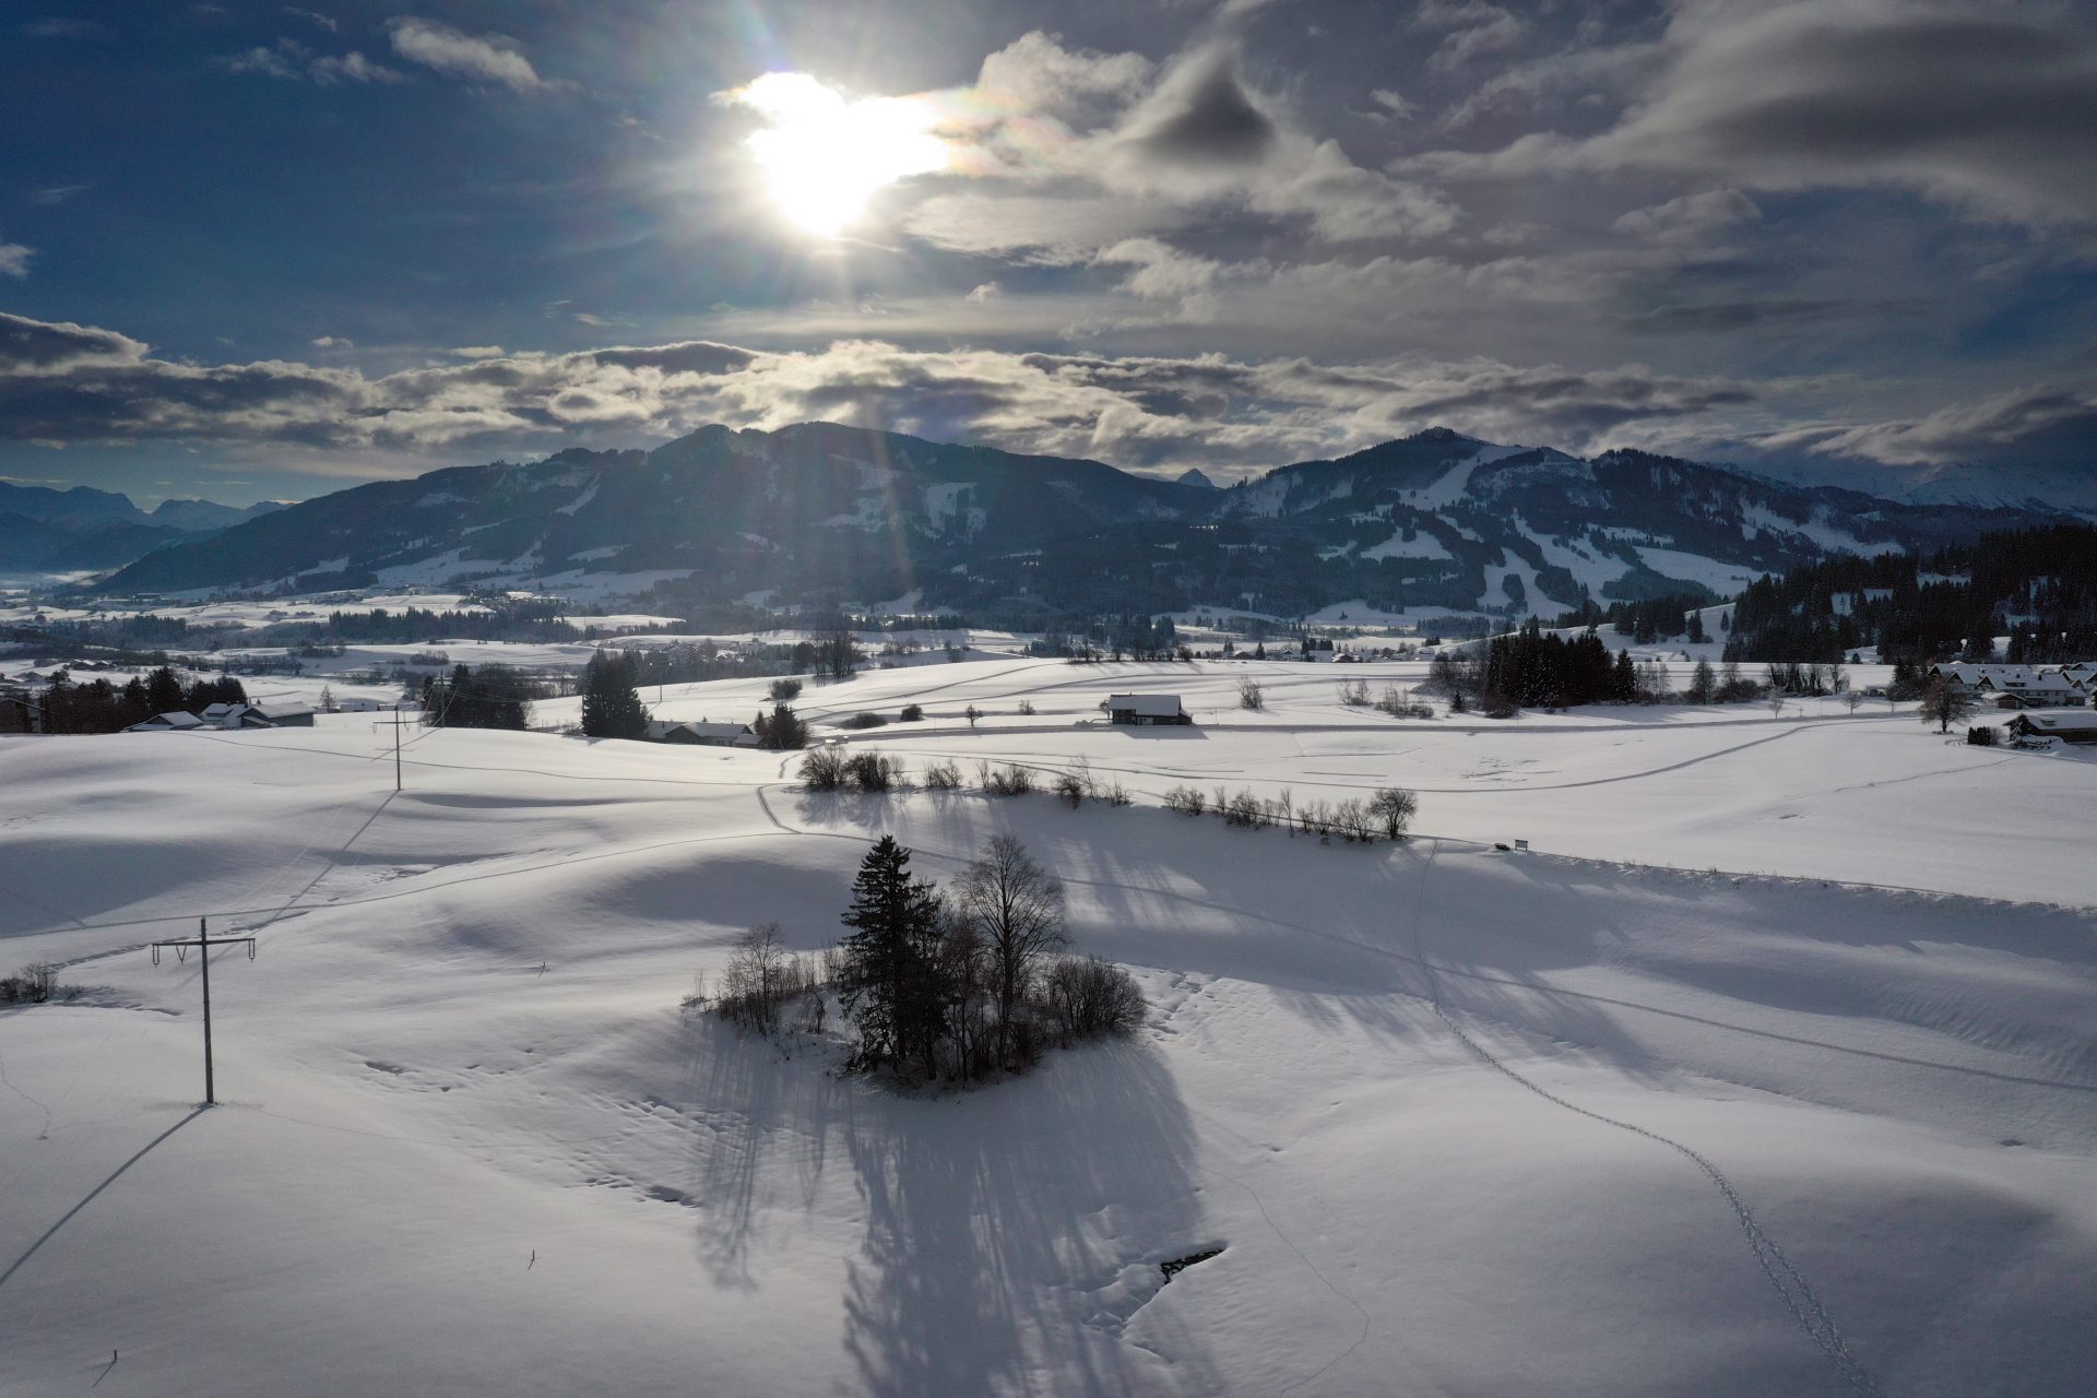
[[[71,493],[69,493],[71,495]],[[1332,604],[1525,614],[1711,589],[1831,553],[1967,541],[2034,505],[1891,501],[1445,428],[1231,488],[889,432],[700,428],[654,451],[562,451],[356,486],[172,543],[101,591],[484,583],[663,606],[950,606],[971,614]]]

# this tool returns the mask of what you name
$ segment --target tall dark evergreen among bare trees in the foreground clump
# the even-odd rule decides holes
[[[895,836],[866,851],[843,922],[853,931],[841,945],[837,1002],[860,1031],[853,1065],[918,1065],[931,1077],[946,1027],[944,910],[937,891],[910,876],[910,851]]]

